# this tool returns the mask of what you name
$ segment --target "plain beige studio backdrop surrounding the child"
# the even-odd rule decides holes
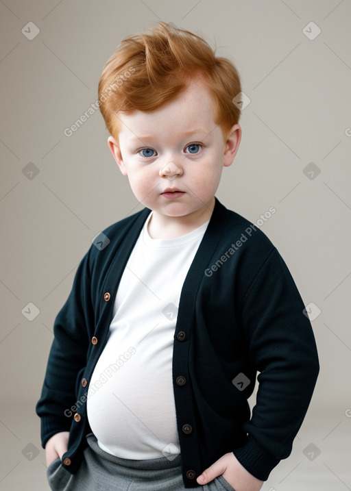
[[[48,489],[34,405],[53,319],[91,240],[142,208],[99,112],[70,138],[64,129],[96,101],[121,39],[158,19],[204,34],[237,65],[251,102],[217,197],[253,222],[276,207],[262,230],[305,305],[322,311],[313,401],[263,490],[351,490],[350,16],[350,0],[0,1],[1,491]],[[318,175],[304,171],[311,162]],[[320,455],[305,455],[311,443]]]

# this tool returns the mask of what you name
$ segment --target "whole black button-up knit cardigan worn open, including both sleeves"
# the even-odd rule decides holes
[[[55,320],[36,412],[43,446],[58,431],[70,431],[62,465],[71,473],[80,466],[84,437],[91,431],[88,383],[108,340],[123,269],[149,212],[145,208],[104,230],[110,242],[106,246],[105,238],[90,247]],[[271,241],[216,199],[182,287],[173,344],[186,488],[198,486],[196,477],[227,452],[262,480],[290,455],[319,371],[311,323],[302,310],[300,294]],[[247,399],[257,372],[251,415]],[[75,413],[79,416],[73,418]]]

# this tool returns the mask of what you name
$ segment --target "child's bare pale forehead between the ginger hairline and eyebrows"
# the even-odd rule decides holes
[[[121,133],[138,136],[145,131],[176,131],[187,133],[195,129],[211,131],[215,127],[210,92],[199,77],[191,79],[184,92],[173,101],[152,112],[135,111],[119,114]]]

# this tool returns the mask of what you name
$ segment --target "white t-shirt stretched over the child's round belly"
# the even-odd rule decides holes
[[[88,421],[100,448],[125,459],[180,453],[173,336],[184,279],[208,225],[152,239],[151,216],[123,271],[110,336],[90,381],[94,390],[88,391]]]

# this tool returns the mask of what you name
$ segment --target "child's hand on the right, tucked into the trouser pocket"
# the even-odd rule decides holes
[[[223,455],[196,480],[199,484],[207,484],[219,475],[223,475],[236,491],[259,491],[263,486],[263,481],[250,474],[232,452]]]

